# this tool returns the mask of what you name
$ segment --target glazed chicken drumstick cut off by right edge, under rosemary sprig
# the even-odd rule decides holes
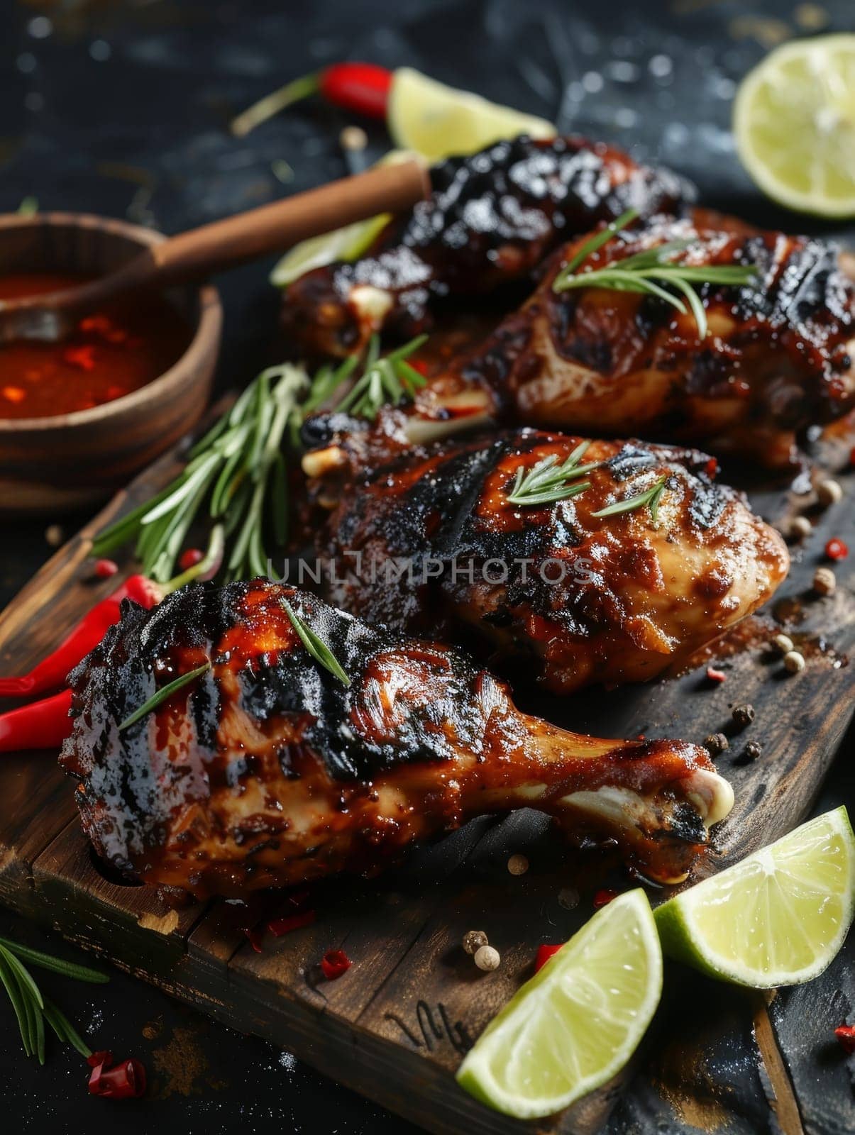
[[[576,269],[620,266],[671,241],[673,262],[752,266],[746,287],[701,284],[709,334],[656,296],[554,292],[589,235],[550,262],[534,295],[431,378],[405,420],[420,440],[485,418],[614,436],[637,434],[786,466],[808,426],[855,404],[855,285],[822,242],[695,210],[617,234]],[[393,412],[395,413],[395,412]]]

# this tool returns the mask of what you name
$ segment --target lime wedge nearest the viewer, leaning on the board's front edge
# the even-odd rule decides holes
[[[547,1116],[610,1079],[659,1004],[662,951],[644,891],[597,911],[479,1036],[458,1083],[519,1119]]]

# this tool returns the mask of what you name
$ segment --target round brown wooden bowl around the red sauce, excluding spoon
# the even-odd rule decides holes
[[[159,233],[84,213],[0,216],[0,274],[119,268]],[[0,419],[0,513],[92,504],[125,484],[199,420],[219,350],[223,309],[210,286],[166,293],[192,338],[154,381],[120,398],[56,418]]]

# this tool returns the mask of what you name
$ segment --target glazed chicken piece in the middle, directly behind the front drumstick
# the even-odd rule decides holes
[[[402,453],[374,473],[355,453],[319,537],[328,598],[410,633],[468,642],[475,630],[491,664],[555,693],[654,678],[769,599],[786,546],[714,482],[706,454],[592,442],[585,491],[508,499],[520,468],[563,462],[581,440],[523,429]],[[647,505],[594,515],[657,484],[655,518]]]

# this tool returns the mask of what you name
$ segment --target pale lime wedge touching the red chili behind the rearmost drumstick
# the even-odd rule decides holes
[[[453,153],[476,153],[520,134],[555,136],[555,127],[543,118],[445,86],[411,67],[394,74],[386,121],[396,145],[417,150],[431,162]]]

